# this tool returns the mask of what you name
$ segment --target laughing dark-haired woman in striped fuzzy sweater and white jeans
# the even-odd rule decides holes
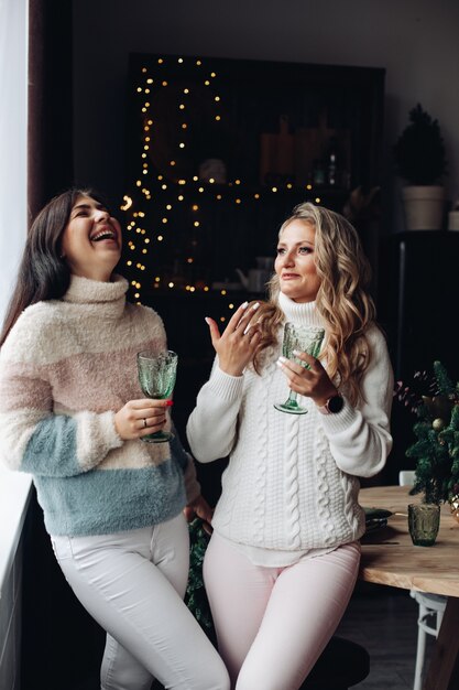
[[[227,689],[225,666],[183,602],[187,503],[204,518],[168,402],[142,397],[135,353],[162,351],[160,316],[113,273],[121,228],[72,190],[39,214],[0,339],[0,454],[30,472],[59,565],[107,630],[102,690]]]

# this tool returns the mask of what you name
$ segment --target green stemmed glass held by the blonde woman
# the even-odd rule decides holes
[[[302,353],[308,353],[313,357],[317,357],[321,343],[324,339],[325,331],[319,326],[296,326],[293,323],[286,323],[284,326],[284,339],[282,343],[282,354],[287,359],[293,359],[297,364],[300,364],[305,369],[309,369],[309,365],[303,359],[295,358],[293,351],[297,349]],[[289,412],[291,414],[306,414],[307,409],[298,405],[296,400],[297,393],[291,390],[289,396],[285,402],[276,402],[274,405],[280,412]]]

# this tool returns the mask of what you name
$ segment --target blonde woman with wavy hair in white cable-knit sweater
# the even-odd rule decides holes
[[[237,690],[296,690],[352,593],[359,477],[391,450],[393,375],[354,228],[309,203],[278,234],[270,299],[242,304],[187,424],[196,459],[229,455],[204,565],[219,651]],[[285,322],[323,326],[318,358],[280,356]],[[307,414],[274,408],[287,385]]]

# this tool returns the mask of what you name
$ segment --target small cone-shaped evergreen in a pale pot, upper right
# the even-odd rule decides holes
[[[409,111],[409,123],[394,147],[394,158],[396,172],[407,182],[402,192],[407,229],[441,228],[445,144],[438,120],[433,120],[420,104]]]

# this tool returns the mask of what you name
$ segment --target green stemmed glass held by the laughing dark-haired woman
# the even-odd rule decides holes
[[[155,400],[170,397],[175,386],[177,359],[177,354],[172,349],[160,354],[149,349],[138,353],[139,382],[144,396]],[[173,438],[171,431],[156,431],[142,436],[141,440],[147,443],[164,443]]]

